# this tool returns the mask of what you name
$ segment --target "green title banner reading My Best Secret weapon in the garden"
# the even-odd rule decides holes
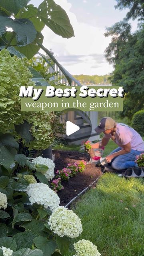
[[[118,86],[35,86],[35,91],[21,87],[21,111],[123,111],[124,90]]]

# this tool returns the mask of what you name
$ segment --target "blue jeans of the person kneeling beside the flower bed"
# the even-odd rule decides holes
[[[122,148],[118,147],[115,150],[113,150],[109,155],[120,151]],[[123,154],[120,156],[116,156],[112,159],[110,162],[110,165],[112,166],[113,169],[115,170],[124,170],[129,167],[136,167],[138,164],[136,164],[136,156],[140,155],[143,151],[138,151],[131,149],[129,153]]]

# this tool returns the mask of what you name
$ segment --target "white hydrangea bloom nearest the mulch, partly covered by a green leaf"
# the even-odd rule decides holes
[[[50,181],[54,178],[54,162],[49,158],[43,158],[42,156],[38,156],[32,160],[34,164],[44,164],[48,166],[48,169],[42,173],[46,176],[46,178]]]

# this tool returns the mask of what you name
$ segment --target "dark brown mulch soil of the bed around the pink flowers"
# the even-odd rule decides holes
[[[74,164],[77,160],[85,160],[87,162],[86,168],[82,173],[70,178],[68,182],[62,182],[63,190],[58,192],[60,197],[60,205],[65,206],[77,196],[84,188],[89,186],[96,178],[102,175],[100,167],[95,164],[90,164],[90,157],[88,154],[78,151],[60,151],[54,150],[55,154],[55,171],[67,166],[67,164]]]

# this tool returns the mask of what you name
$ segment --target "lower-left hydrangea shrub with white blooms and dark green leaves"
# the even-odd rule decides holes
[[[72,239],[82,233],[81,220],[72,210],[60,206],[60,198],[49,187],[50,176],[47,179],[44,171],[50,175],[54,172],[51,160],[42,157],[24,160],[19,173],[13,168],[9,176],[0,176],[0,229],[3,230],[0,255],[65,255]],[[54,183],[56,189],[59,181],[60,178]],[[86,252],[97,252],[94,246],[88,246]],[[85,247],[83,244],[82,249],[81,245],[80,250]],[[78,254],[79,251],[76,247],[76,256],[89,256]]]

